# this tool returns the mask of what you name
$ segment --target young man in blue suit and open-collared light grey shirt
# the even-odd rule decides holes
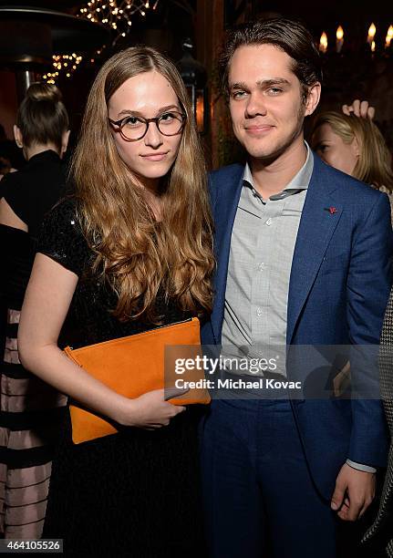
[[[312,36],[284,18],[234,30],[222,78],[247,164],[211,175],[217,272],[203,343],[248,356],[377,345],[391,285],[388,197],[305,143],[321,91]],[[289,361],[280,374],[292,379]],[[202,429],[212,557],[260,558],[268,545],[275,558],[335,558],[337,522],[367,510],[386,457],[377,398],[216,398]]]

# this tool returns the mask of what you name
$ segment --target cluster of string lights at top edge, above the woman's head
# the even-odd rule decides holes
[[[90,0],[80,8],[79,16],[88,18],[93,23],[101,23],[117,33],[116,42],[120,36],[126,36],[130,31],[132,15],[147,15],[147,11],[156,10],[160,0]]]

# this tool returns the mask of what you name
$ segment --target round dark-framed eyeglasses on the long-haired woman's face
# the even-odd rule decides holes
[[[144,119],[143,117],[129,115],[120,120],[109,119],[109,122],[112,126],[116,127],[124,140],[137,141],[144,138],[147,134],[150,122],[154,122],[163,136],[177,136],[181,133],[186,118],[185,114],[176,110],[170,110],[154,119]]]

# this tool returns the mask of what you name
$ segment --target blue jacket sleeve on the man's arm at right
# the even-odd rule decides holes
[[[351,358],[352,431],[348,459],[386,465],[388,431],[377,377],[377,348],[392,282],[393,238],[388,196],[377,196],[354,232],[347,277]],[[367,347],[368,346],[368,347]]]

